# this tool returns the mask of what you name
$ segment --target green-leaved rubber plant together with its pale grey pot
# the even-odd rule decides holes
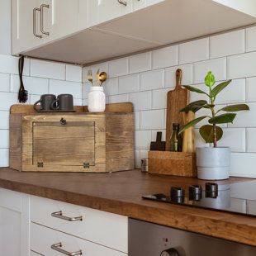
[[[228,105],[216,110],[216,97],[218,94],[225,89],[231,80],[217,84],[214,75],[210,72],[207,73],[205,78],[206,87],[209,92],[204,92],[198,88],[192,86],[184,86],[191,92],[197,92],[205,94],[209,97],[209,102],[200,100],[191,102],[181,111],[188,112],[192,111],[196,113],[201,108],[209,110],[209,116],[200,116],[196,119],[188,122],[179,133],[191,126],[195,126],[197,123],[204,119],[208,119],[208,125],[201,126],[199,133],[206,143],[212,144],[213,147],[197,148],[197,177],[201,179],[217,180],[229,178],[230,173],[230,148],[228,147],[217,147],[217,141],[219,141],[223,135],[223,130],[220,124],[233,123],[236,111],[249,110],[246,104]]]

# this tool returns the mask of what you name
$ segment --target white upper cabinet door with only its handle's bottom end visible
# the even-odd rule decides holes
[[[89,26],[94,26],[132,12],[132,0],[90,0],[88,10]]]

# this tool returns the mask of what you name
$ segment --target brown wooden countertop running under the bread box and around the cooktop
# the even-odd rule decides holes
[[[239,183],[245,178],[219,182]],[[109,211],[182,230],[256,246],[256,217],[146,201],[170,186],[200,184],[197,178],[167,177],[132,170],[120,173],[20,173],[0,168],[0,187],[79,206]]]

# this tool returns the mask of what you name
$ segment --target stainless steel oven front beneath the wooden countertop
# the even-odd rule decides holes
[[[255,256],[256,247],[129,220],[129,256]]]

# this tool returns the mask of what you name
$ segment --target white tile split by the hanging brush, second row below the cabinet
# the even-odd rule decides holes
[[[23,76],[24,87],[31,94],[46,94],[49,92],[49,79]],[[16,74],[11,75],[11,92],[19,92],[20,78]]]

